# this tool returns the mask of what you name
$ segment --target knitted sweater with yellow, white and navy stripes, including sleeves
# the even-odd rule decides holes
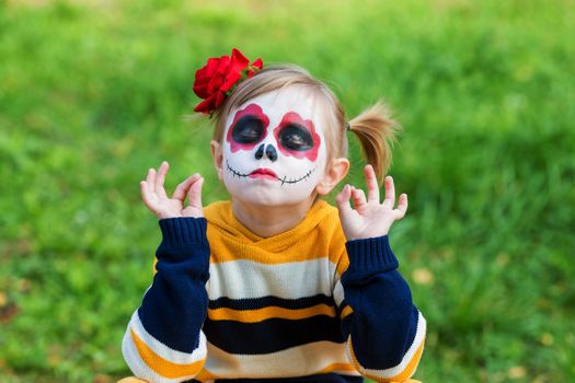
[[[345,241],[317,201],[296,228],[260,237],[216,202],[160,220],[153,282],[123,341],[149,382],[407,380],[425,320],[387,236]],[[289,379],[291,378],[291,379]]]

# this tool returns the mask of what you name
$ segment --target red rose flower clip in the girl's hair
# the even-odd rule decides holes
[[[209,58],[206,66],[196,72],[194,93],[204,101],[196,105],[194,112],[211,115],[241,80],[254,76],[263,65],[261,58],[250,63],[235,48],[231,50],[231,57],[225,55]]]

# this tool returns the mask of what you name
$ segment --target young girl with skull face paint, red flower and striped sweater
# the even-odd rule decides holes
[[[204,208],[199,174],[170,198],[166,162],[140,184],[163,239],[126,362],[148,382],[406,381],[426,326],[388,241],[407,197],[394,208],[388,176],[380,201],[393,121],[378,104],[346,123],[303,69],[261,68],[234,49],[196,74],[229,201]],[[348,171],[348,131],[371,164],[367,196],[345,185],[334,208],[320,197]]]

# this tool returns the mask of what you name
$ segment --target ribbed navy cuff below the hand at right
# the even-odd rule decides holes
[[[388,235],[348,241],[345,247],[349,268],[355,271],[389,271],[400,265],[391,251]]]

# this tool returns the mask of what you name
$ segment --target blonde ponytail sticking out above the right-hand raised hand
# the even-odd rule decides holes
[[[381,102],[349,121],[348,129],[359,139],[367,162],[373,166],[380,184],[391,164],[391,146],[400,128]]]

